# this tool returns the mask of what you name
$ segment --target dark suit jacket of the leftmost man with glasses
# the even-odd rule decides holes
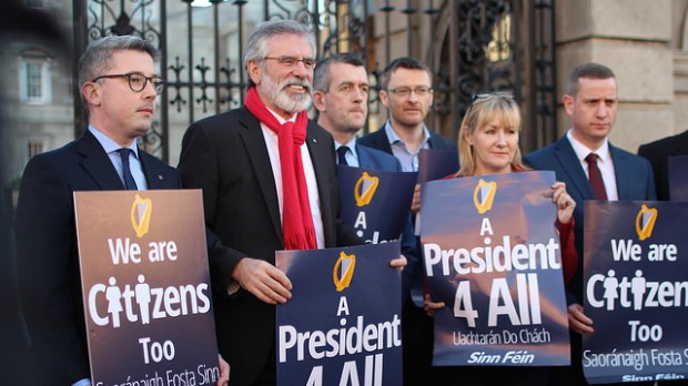
[[[149,189],[179,189],[173,167],[139,151]],[[90,377],[72,193],[124,186],[90,131],[27,165],[16,216],[22,308],[40,385]]]

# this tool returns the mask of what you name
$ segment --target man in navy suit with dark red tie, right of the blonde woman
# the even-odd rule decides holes
[[[605,65],[585,63],[568,78],[564,108],[571,128],[559,141],[524,160],[537,170],[556,172],[557,181],[576,201],[574,210],[578,271],[567,286],[571,335],[571,366],[553,370],[556,385],[585,385],[581,336],[593,333],[593,321],[583,309],[583,202],[585,200],[656,200],[652,171],[647,160],[613,146],[607,136],[616,121],[617,80]],[[601,177],[601,182],[599,181]],[[597,190],[596,190],[597,189]]]

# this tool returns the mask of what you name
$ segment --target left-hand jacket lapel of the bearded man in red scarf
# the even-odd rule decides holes
[[[242,108],[243,113],[239,119],[239,124],[243,130],[239,131],[244,145],[246,146],[246,153],[253,165],[253,172],[255,179],[259,182],[263,199],[270,211],[270,217],[272,225],[275,228],[276,234],[280,236],[280,242],[284,243],[282,233],[282,222],[280,220],[280,203],[277,201],[277,187],[275,186],[274,174],[272,173],[272,165],[270,164],[270,154],[267,154],[267,146],[265,144],[265,138],[263,136],[263,130],[261,129],[260,121],[249,112],[245,108]]]

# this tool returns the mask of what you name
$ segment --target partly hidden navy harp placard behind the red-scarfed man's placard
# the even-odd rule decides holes
[[[396,241],[404,231],[417,173],[337,167],[340,219],[367,243]]]

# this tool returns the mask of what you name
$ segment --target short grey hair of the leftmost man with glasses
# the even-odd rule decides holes
[[[112,65],[110,60],[118,51],[145,52],[158,61],[160,52],[153,44],[134,35],[104,37],[91,42],[79,58],[79,85],[103,75]]]

